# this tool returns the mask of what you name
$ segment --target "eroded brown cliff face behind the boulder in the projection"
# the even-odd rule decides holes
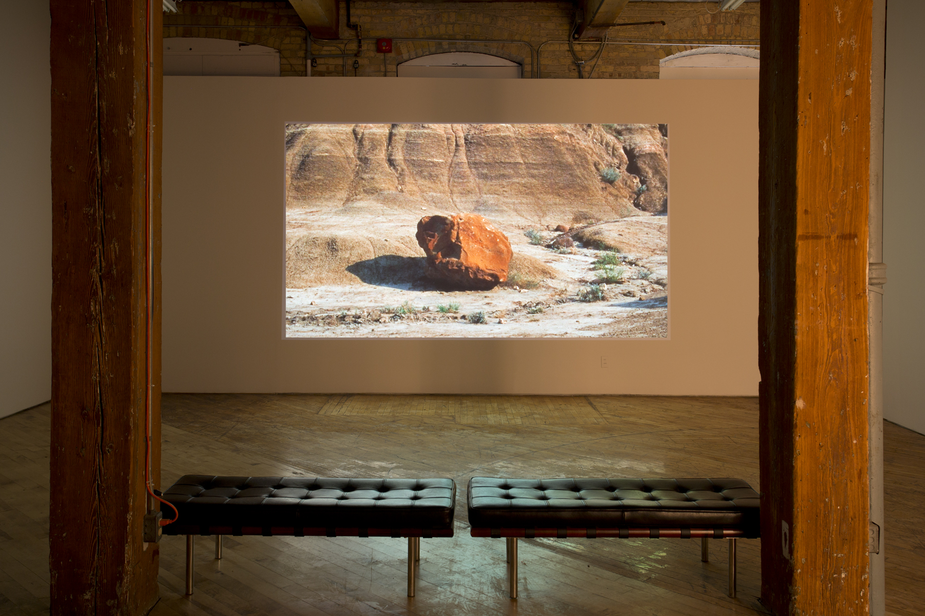
[[[609,220],[668,207],[667,140],[655,125],[292,124],[286,149],[295,209],[427,207],[556,224],[578,211]]]

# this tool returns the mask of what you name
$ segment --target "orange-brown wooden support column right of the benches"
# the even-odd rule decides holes
[[[872,0],[761,3],[762,601],[869,608]]]

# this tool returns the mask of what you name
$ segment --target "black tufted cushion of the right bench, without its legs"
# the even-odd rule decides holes
[[[469,480],[482,528],[725,527],[759,537],[759,494],[742,479]]]

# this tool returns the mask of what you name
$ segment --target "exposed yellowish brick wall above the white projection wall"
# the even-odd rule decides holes
[[[302,30],[244,30],[242,25],[302,25],[288,3],[282,2],[181,2],[181,15],[165,16],[166,24],[196,23],[227,26],[227,29],[165,28],[165,36],[203,36],[260,43],[280,51],[280,73],[305,74],[304,33]],[[663,19],[666,26],[634,26],[611,30],[613,39],[696,40],[698,42],[757,42],[759,39],[759,4],[746,3],[735,11],[716,11],[715,3],[701,2],[634,2],[623,10],[620,21]],[[529,42],[534,49],[541,44],[543,78],[577,78],[566,43],[572,30],[574,6],[571,2],[353,2],[351,17],[363,27],[364,38],[451,38],[505,39]],[[239,28],[235,28],[239,26]],[[315,42],[314,54],[339,54],[356,50],[355,30],[347,28],[346,6],[340,4],[338,46],[321,46]],[[352,39],[352,40],[351,40]],[[552,41],[552,42],[549,42]],[[657,79],[659,60],[685,49],[685,45],[611,44],[600,55],[594,79]],[[524,77],[534,69],[529,47],[514,43],[478,42],[400,42],[388,54],[388,75],[395,66],[425,54],[440,52],[480,52],[499,55],[524,66]],[[576,53],[592,58],[598,43],[575,45]],[[356,60],[359,66],[354,69]],[[376,54],[375,42],[364,41],[360,57],[318,58],[313,77],[383,75],[382,54]],[[588,63],[585,69],[590,67]]]

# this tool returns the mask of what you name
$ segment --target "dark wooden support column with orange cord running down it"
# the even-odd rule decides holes
[[[160,467],[161,3],[153,0],[153,467]],[[144,0],[51,0],[52,614],[144,614],[146,309]],[[156,485],[156,484],[155,484]]]

